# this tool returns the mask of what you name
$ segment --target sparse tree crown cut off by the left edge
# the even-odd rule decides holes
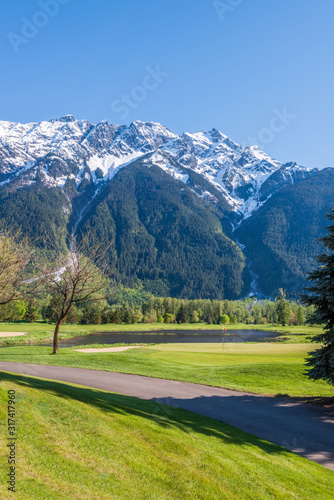
[[[23,299],[38,286],[28,271],[34,253],[26,238],[0,229],[0,305]]]

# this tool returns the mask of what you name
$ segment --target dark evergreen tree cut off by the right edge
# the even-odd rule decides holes
[[[334,221],[334,209],[327,214]],[[328,234],[321,238],[326,253],[317,257],[320,266],[311,272],[308,279],[314,284],[306,290],[310,295],[303,296],[303,302],[315,306],[314,321],[324,324],[323,333],[313,338],[322,347],[310,353],[307,374],[313,380],[323,379],[334,385],[334,224],[329,226]]]

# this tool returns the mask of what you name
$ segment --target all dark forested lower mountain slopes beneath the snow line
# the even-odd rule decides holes
[[[3,186],[0,220],[37,247],[51,233],[65,247],[73,227],[79,237],[89,232],[92,243],[111,243],[110,276],[118,284],[157,297],[240,299],[250,292],[250,266],[257,292],[273,298],[284,288],[298,300],[321,251],[333,169],[282,188],[233,233],[236,216],[222,193],[211,186],[208,196],[203,177],[184,173],[187,185],[138,160],[98,191],[86,177],[78,190],[74,181],[45,188],[42,179],[16,190]]]

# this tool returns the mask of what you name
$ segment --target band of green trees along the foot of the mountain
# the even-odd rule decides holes
[[[45,296],[42,300],[16,301],[0,306],[0,321],[44,320],[55,323],[59,299]],[[302,306],[278,295],[275,301],[247,298],[244,300],[186,300],[154,297],[142,286],[123,286],[109,292],[108,300],[87,302],[73,307],[67,323],[133,324],[133,323],[207,323],[303,325],[312,317],[314,308]]]

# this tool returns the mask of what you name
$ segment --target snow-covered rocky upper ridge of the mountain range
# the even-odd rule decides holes
[[[93,125],[71,115],[39,123],[0,122],[0,186],[11,190],[37,181],[62,187],[69,180],[78,189],[87,184],[97,188],[139,158],[185,184],[189,170],[199,174],[222,193],[240,220],[282,186],[314,172],[295,163],[283,165],[216,129],[177,135],[153,122]]]

